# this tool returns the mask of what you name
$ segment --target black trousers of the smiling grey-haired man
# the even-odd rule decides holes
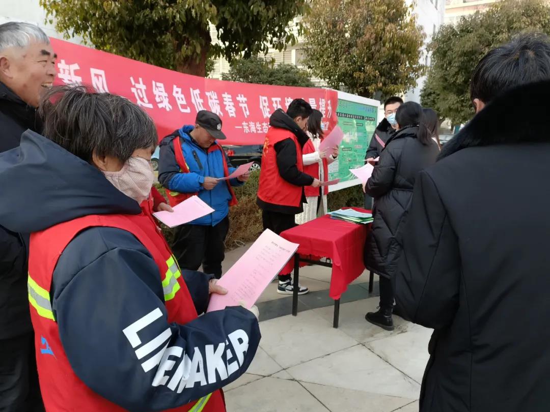
[[[0,339],[0,412],[43,412],[34,333]]]

